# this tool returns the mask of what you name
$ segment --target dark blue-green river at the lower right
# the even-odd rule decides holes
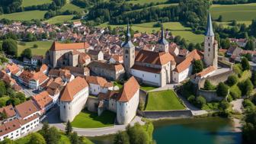
[[[219,117],[154,122],[158,144],[241,144],[241,133],[233,132],[232,121]],[[110,144],[114,136],[90,138],[96,144]]]

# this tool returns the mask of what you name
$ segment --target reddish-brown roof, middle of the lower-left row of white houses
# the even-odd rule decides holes
[[[22,104],[18,104],[16,107],[18,114],[24,118],[29,116],[30,114],[36,113],[38,110],[37,106],[34,104],[32,100],[26,101]]]

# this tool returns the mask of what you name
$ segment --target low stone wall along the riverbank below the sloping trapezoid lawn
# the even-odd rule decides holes
[[[182,118],[193,117],[191,110],[168,110],[168,111],[139,111],[138,114],[142,117],[150,119],[162,119],[162,118]]]

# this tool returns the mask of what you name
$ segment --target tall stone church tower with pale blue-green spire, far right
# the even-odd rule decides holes
[[[214,38],[213,24],[210,12],[207,18],[207,29],[204,38],[204,63],[206,66],[218,68],[218,43]]]

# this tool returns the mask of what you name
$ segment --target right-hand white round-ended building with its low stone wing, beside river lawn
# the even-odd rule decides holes
[[[139,83],[132,76],[120,91],[107,91],[99,94],[98,114],[110,110],[117,114],[117,123],[130,123],[136,116],[139,106]]]

